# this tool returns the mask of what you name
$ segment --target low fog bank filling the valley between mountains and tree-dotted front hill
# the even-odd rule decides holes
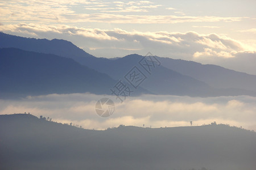
[[[102,97],[115,102],[109,118],[99,117],[95,104]],[[164,126],[230,124],[252,129],[256,125],[256,97],[181,97],[144,95],[129,97],[122,104],[114,96],[93,94],[47,95],[23,100],[0,100],[0,114],[30,112],[53,121],[81,125],[87,129],[106,129],[120,124],[152,128]],[[254,129],[256,130],[256,129]]]

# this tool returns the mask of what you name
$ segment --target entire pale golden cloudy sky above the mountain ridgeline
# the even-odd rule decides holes
[[[0,1],[0,31],[64,39],[96,57],[145,55],[256,75],[256,1]]]

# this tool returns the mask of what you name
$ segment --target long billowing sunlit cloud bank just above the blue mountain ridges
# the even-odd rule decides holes
[[[165,46],[168,46],[168,48],[171,48],[171,50],[173,50],[173,48],[176,48],[176,50],[184,50],[184,48],[186,48],[187,50],[193,51],[194,53],[197,52],[199,49],[204,50],[204,48],[221,49],[227,50],[228,52],[230,52],[230,50],[243,50],[243,46],[240,42],[230,39],[229,37],[218,36],[214,33],[210,35],[200,35],[196,32],[127,32],[119,28],[115,28],[112,30],[97,28],[91,29],[70,27],[68,25],[47,26],[25,23],[4,25],[0,27],[0,29],[2,31],[13,33],[30,32],[34,33],[34,35],[38,35],[38,37],[42,35],[44,35],[45,37],[57,35],[57,37],[62,36],[62,38],[65,39],[66,36],[82,36],[84,40],[93,39],[97,42],[102,40],[108,40],[111,41],[112,44],[118,43],[114,44],[114,46],[118,46],[121,43],[123,48],[127,48],[127,46],[129,45],[139,42],[139,45],[142,47],[146,47],[147,45],[161,45],[163,48],[162,50],[165,50]],[[52,36],[52,38],[55,37]],[[84,46],[90,45],[86,44]],[[138,44],[135,44],[135,46],[138,46]],[[106,48],[108,48],[108,46],[106,46]],[[148,48],[152,48],[152,46],[149,46]],[[130,47],[128,49],[130,49]]]

